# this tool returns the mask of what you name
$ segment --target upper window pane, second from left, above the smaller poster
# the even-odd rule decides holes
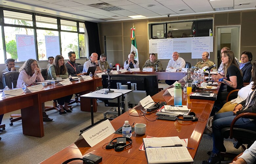
[[[54,28],[54,29],[58,28],[56,18],[36,15],[35,21],[36,21],[36,27]]]

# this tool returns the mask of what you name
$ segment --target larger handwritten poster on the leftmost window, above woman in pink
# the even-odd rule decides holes
[[[16,45],[18,61],[26,61],[30,58],[36,59],[34,35],[16,34]]]

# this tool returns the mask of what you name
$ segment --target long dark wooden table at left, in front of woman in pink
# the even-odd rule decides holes
[[[25,95],[0,98],[0,115],[21,109],[22,130],[24,135],[43,137],[44,126],[42,116],[42,103],[75,93],[88,93],[95,91],[101,86],[101,78],[94,77],[92,80],[73,81],[70,85],[47,85],[44,90],[38,92],[25,92]],[[90,100],[81,103],[82,110],[90,111]],[[96,107],[96,100],[93,102]],[[88,108],[88,109],[87,109]]]

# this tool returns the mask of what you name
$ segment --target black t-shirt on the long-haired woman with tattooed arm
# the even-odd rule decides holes
[[[235,65],[230,65],[228,68],[227,68],[227,80],[230,81],[229,77],[230,76],[236,76],[237,77],[237,87],[235,89],[241,89],[243,87],[243,76],[241,75],[240,73],[240,70],[235,66]],[[230,87],[227,85],[227,92],[230,92],[234,90],[234,88]]]

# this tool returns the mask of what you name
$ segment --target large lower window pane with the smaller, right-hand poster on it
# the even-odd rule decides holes
[[[52,30],[36,30],[38,60],[47,60],[49,56],[60,55],[59,33]]]

